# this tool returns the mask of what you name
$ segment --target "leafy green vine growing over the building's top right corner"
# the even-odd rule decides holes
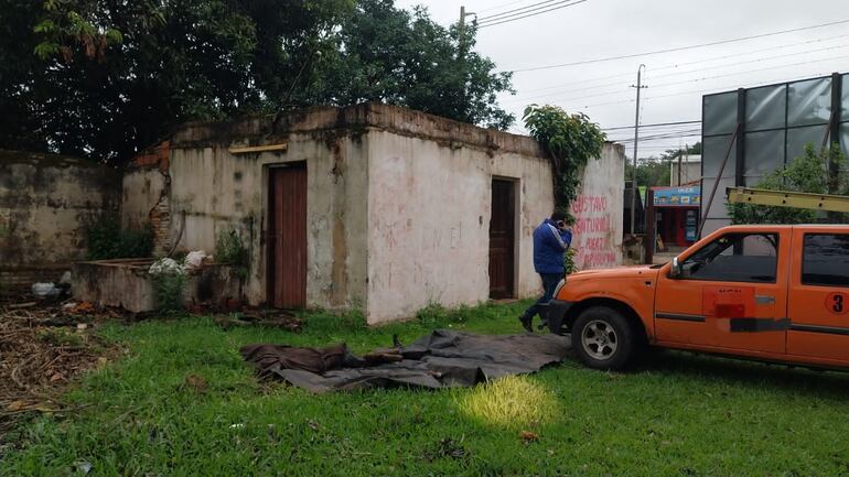
[[[571,215],[583,169],[590,159],[601,158],[606,135],[587,115],[570,115],[557,106],[530,105],[525,127],[551,159],[555,209]]]

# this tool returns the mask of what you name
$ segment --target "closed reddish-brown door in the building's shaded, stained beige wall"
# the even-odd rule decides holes
[[[269,170],[268,301],[307,306],[307,167]]]

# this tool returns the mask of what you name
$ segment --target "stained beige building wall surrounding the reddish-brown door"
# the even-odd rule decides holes
[[[292,133],[271,140],[288,143],[286,152],[233,155],[225,145],[193,147],[191,135],[186,131],[184,144],[172,143],[171,237],[175,240],[183,229],[180,248],[214,252],[219,234],[239,230],[250,256],[246,297],[252,304],[264,303],[268,167],[305,162],[308,306],[365,307],[363,138]]]

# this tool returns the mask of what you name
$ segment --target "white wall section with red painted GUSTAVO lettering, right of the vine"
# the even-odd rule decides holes
[[[621,144],[604,144],[601,159],[590,160],[580,194],[572,204],[577,221],[572,245],[580,270],[622,264],[625,152]]]

